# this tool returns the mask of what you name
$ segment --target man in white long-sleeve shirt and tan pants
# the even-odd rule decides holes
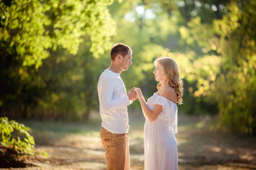
[[[113,45],[110,55],[111,65],[98,82],[100,138],[106,150],[108,170],[130,170],[127,106],[137,99],[137,94],[133,89],[126,94],[120,74],[131,65],[132,50],[118,43]]]

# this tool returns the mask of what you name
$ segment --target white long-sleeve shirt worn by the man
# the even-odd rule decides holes
[[[111,133],[128,133],[127,106],[132,102],[119,73],[107,69],[100,75],[98,96],[102,127]]]

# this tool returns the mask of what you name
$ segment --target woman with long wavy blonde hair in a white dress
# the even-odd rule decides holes
[[[140,88],[134,88],[145,116],[144,154],[145,170],[178,170],[177,104],[182,104],[183,82],[174,59],[154,61],[158,91],[145,98]]]

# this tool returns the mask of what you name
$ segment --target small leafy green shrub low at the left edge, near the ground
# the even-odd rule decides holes
[[[7,117],[0,117],[0,128],[0,134],[2,134],[1,145],[14,148],[18,154],[34,155],[35,140],[33,136],[29,134],[29,127],[15,122],[14,120],[9,121]],[[24,141],[21,140],[19,136],[15,139],[12,134],[14,130],[26,135],[26,138],[23,139]]]

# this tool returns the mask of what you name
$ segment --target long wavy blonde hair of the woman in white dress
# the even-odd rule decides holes
[[[177,94],[177,103],[182,104],[183,96],[183,81],[180,79],[179,68],[176,61],[170,57],[161,57],[154,61],[163,67],[163,77],[167,79],[167,85],[174,88]],[[157,84],[157,90],[162,87],[161,82]]]

